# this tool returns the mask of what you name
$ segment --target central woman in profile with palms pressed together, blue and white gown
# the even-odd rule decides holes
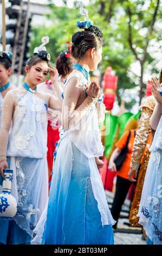
[[[115,221],[98,169],[103,155],[98,113],[103,114],[105,105],[99,84],[90,82],[89,77],[89,71],[96,70],[102,59],[103,34],[88,25],[72,36],[75,64],[64,89],[63,127],[54,152],[49,202],[34,230],[33,244],[114,242]]]

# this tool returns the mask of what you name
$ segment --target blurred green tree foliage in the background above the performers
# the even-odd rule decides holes
[[[77,31],[76,21],[83,20],[79,12],[83,3],[74,1],[74,7],[68,8],[67,1],[63,1],[62,7],[49,1],[49,7],[51,14],[46,16],[53,25],[33,27],[31,53],[40,44],[41,37],[48,35],[50,42],[47,49],[55,63],[58,54],[66,47],[66,41],[70,41],[73,33]],[[99,65],[101,75],[109,65],[118,75],[119,103],[120,92],[133,87],[137,87],[141,100],[147,83],[145,74],[155,75],[159,72],[156,65],[162,47],[160,0],[89,0],[85,8],[89,11],[89,18],[104,34],[103,57]],[[137,66],[139,71],[136,70]],[[129,106],[131,104],[134,104],[133,100]]]

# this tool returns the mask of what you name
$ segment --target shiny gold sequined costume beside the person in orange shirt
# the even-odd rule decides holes
[[[146,98],[145,102],[140,106],[141,117],[138,124],[137,133],[134,140],[134,146],[132,151],[131,158],[131,169],[137,170],[141,163],[141,167],[139,170],[137,186],[135,188],[135,194],[133,198],[133,202],[131,205],[131,210],[129,214],[129,222],[131,225],[138,225],[139,218],[137,217],[140,198],[142,193],[142,187],[144,184],[145,174],[147,170],[148,160],[150,158],[150,151],[148,151],[147,142],[148,137],[152,135],[153,130],[150,124],[150,118],[153,113],[153,109],[155,106],[154,96],[149,96]],[[152,140],[150,139],[150,143]],[[147,149],[146,149],[147,147]],[[144,152],[146,150],[146,152]],[[143,159],[142,156],[144,155]],[[142,159],[142,161],[141,161]]]

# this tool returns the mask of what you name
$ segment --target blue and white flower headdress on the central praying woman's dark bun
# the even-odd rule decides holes
[[[77,27],[84,29],[84,31],[90,31],[94,33],[99,38],[103,37],[101,29],[93,25],[93,21],[88,18],[88,10],[80,8],[80,14],[85,16],[85,21],[77,21]],[[84,32],[76,32],[72,36],[73,44],[79,44],[84,37]]]

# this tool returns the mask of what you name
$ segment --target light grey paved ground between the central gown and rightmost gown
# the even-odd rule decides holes
[[[113,193],[106,191],[109,208],[111,208],[113,196]],[[128,226],[128,212],[125,211],[128,211],[129,205],[130,201],[126,199],[122,206],[122,210],[124,210],[121,212],[122,218],[119,218],[118,229],[114,232],[115,245],[146,245],[146,241],[142,239],[141,229]],[[122,233],[120,231],[122,231]],[[135,232],[140,234],[133,234]]]

